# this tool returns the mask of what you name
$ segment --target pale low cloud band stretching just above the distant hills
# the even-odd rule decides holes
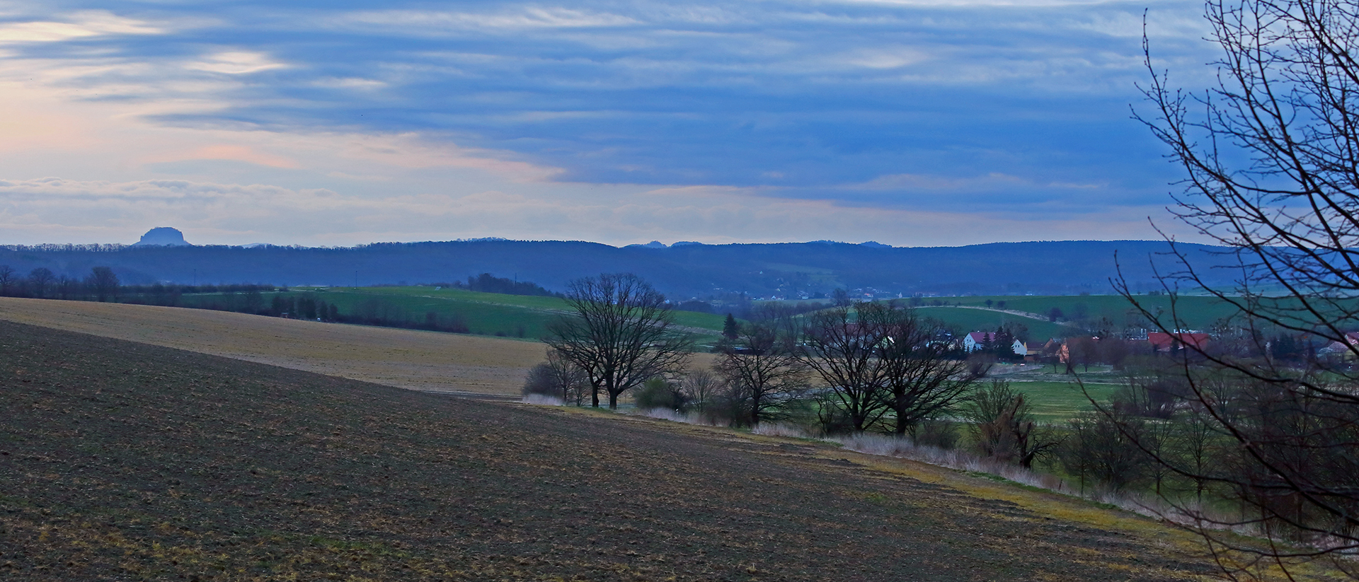
[[[72,213],[101,220],[71,224]],[[1046,239],[1127,237],[1143,228],[1144,217],[1104,213],[1095,222],[1017,220],[1002,209],[841,208],[828,201],[769,199],[749,189],[700,186],[565,194],[482,190],[348,195],[329,189],[194,180],[0,180],[0,244],[133,241],[149,225],[173,225],[198,244],[447,240],[453,237],[448,229],[466,237],[613,244],[864,237],[890,244],[970,244],[980,232],[988,240],[1031,240],[1031,232],[1042,232]],[[284,232],[288,237],[280,240]]]

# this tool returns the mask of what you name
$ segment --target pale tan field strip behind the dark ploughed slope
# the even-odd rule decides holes
[[[518,395],[535,342],[204,309],[0,297],[0,319],[425,392]]]

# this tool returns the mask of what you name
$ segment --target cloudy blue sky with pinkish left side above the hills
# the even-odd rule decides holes
[[[1201,5],[0,0],[0,244],[1193,240]]]

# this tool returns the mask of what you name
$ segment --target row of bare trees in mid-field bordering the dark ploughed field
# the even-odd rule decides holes
[[[807,315],[768,305],[728,319],[712,369],[688,370],[692,338],[665,297],[631,274],[573,281],[572,307],[549,327],[548,360],[526,393],[601,406],[636,391],[641,406],[693,410],[734,426],[815,418],[825,431],[916,434],[953,414],[988,370],[939,322],[896,303]]]

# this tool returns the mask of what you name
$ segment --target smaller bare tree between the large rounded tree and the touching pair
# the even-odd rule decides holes
[[[798,357],[798,332],[788,319],[741,326],[734,342],[722,345],[713,365],[726,380],[739,425],[757,426],[806,388],[806,366]]]

